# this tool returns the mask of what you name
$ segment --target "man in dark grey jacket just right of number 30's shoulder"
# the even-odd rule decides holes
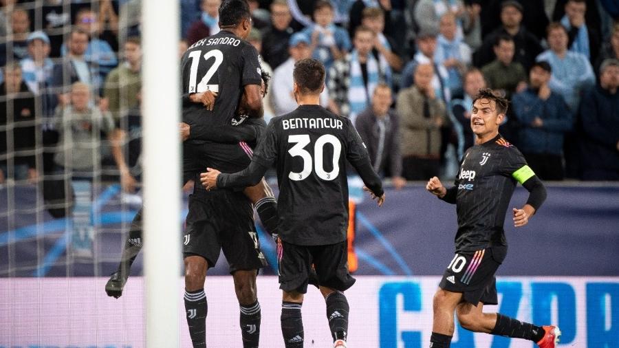
[[[355,127],[367,146],[374,171],[381,176],[389,174],[396,189],[406,185],[402,177],[400,153],[400,121],[391,110],[391,88],[379,83],[372,95],[372,104],[359,114]]]

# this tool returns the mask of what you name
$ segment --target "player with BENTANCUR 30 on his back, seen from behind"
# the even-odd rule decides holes
[[[298,61],[293,78],[299,106],[271,120],[250,166],[234,174],[209,168],[201,175],[202,183],[207,189],[251,186],[275,164],[280,190],[278,258],[285,347],[303,347],[301,305],[312,263],[327,305],[334,347],[346,347],[349,305],[343,292],[355,281],[347,264],[346,160],[379,206],[384,192],[350,120],[319,105],[325,83],[323,65],[315,59]]]

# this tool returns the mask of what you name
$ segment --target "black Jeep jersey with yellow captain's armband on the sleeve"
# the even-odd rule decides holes
[[[503,224],[514,188],[534,175],[522,153],[501,135],[471,146],[455,180],[456,252],[507,246]]]

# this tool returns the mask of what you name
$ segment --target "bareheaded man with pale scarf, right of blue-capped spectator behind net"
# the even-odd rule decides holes
[[[85,59],[88,42],[88,34],[81,29],[74,28],[67,38],[67,54],[61,63],[54,65],[52,85],[63,104],[68,102],[64,94],[68,92],[73,83],[79,81],[91,85],[96,90],[102,87],[102,80],[97,70],[91,62]]]

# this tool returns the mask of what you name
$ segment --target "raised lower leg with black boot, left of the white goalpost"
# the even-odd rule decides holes
[[[138,210],[133,221],[131,221],[131,228],[129,228],[127,239],[124,241],[118,269],[111,274],[105,284],[107,296],[119,298],[122,295],[124,284],[127,283],[127,278],[129,278],[131,265],[138,257],[140,250],[142,250],[142,208]]]

